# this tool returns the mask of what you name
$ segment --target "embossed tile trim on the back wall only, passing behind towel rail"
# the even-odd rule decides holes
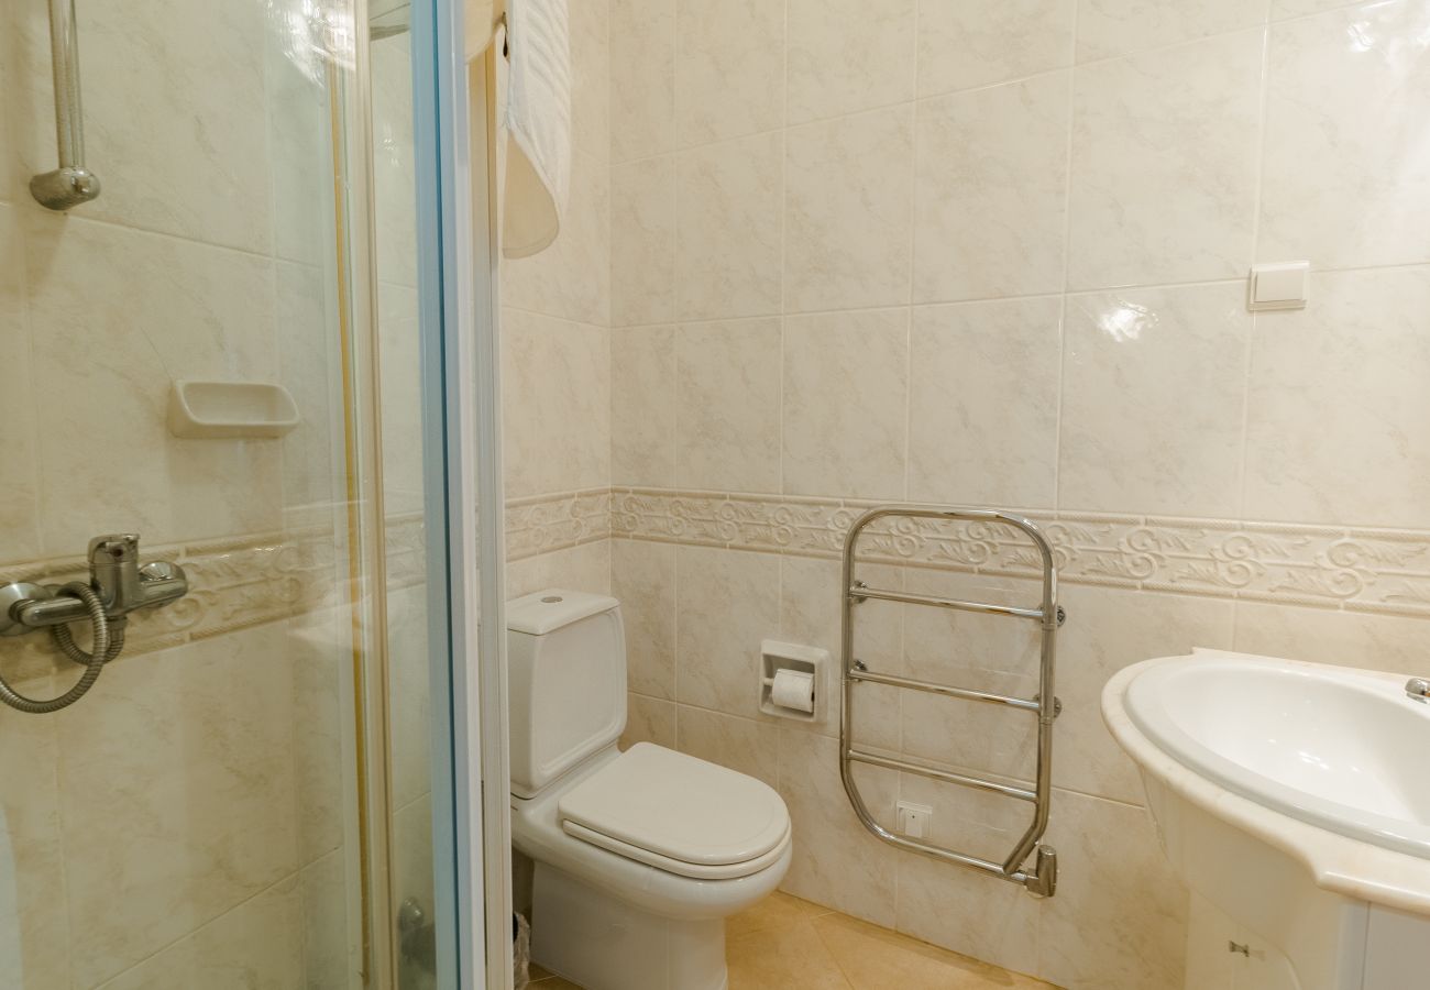
[[[865,501],[616,488],[616,538],[838,557]],[[1430,532],[1014,509],[1041,524],[1074,584],[1430,615]],[[1040,571],[997,524],[871,526],[862,558],[1005,577]]]

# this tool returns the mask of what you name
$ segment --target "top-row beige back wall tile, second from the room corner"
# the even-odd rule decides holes
[[[785,4],[675,0],[675,129],[681,147],[785,123]]]

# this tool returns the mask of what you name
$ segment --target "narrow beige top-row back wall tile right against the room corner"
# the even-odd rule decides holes
[[[611,0],[611,160],[675,149],[675,0]]]

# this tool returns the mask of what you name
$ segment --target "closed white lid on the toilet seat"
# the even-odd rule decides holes
[[[789,835],[769,785],[649,742],[571,788],[558,808],[569,834],[684,876],[748,876],[732,867],[762,868]]]

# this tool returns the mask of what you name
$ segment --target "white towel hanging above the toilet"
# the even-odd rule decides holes
[[[566,0],[508,0],[506,190],[502,253],[526,258],[561,232],[571,192]]]

